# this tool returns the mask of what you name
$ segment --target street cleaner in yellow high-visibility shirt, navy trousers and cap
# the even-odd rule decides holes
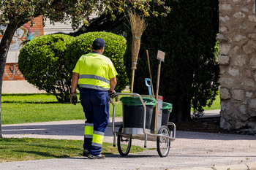
[[[104,159],[101,154],[105,129],[109,123],[109,95],[115,93],[116,69],[110,58],[102,55],[104,39],[97,38],[92,51],[82,55],[73,70],[70,102],[76,104],[76,88],[79,85],[80,101],[86,115],[83,156]]]

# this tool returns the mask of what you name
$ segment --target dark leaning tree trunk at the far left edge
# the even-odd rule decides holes
[[[5,63],[7,61],[7,53],[9,51],[12,37],[15,34],[15,31],[20,26],[23,26],[23,24],[24,23],[22,23],[22,20],[17,23],[9,23],[0,42],[0,138],[3,137],[1,132],[1,90],[3,85]]]

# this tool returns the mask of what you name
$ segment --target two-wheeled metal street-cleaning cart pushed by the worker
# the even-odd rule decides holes
[[[153,109],[146,107],[148,101],[146,101],[142,96],[138,93],[114,93],[113,96],[132,96],[137,98],[141,102],[141,107],[143,109],[136,110],[134,114],[134,110],[124,108],[123,103],[123,123],[118,131],[115,131],[115,116],[116,116],[116,106],[113,102],[113,98],[110,97],[110,102],[113,105],[113,123],[112,123],[112,131],[113,131],[113,146],[116,147],[116,136],[117,136],[117,146],[118,152],[121,156],[127,156],[129,154],[129,150],[132,146],[132,139],[140,139],[144,140],[144,147],[147,147],[147,141],[157,141],[157,152],[160,157],[166,157],[170,150],[170,142],[175,140],[176,136],[176,125],[174,123],[167,122],[167,125],[162,125],[162,100],[161,96],[159,96],[159,100],[157,106],[157,114],[153,113]],[[154,97],[153,97],[154,98]],[[133,115],[142,115],[138,117],[129,117],[124,115],[124,112],[133,112]],[[124,118],[125,117],[125,118]],[[153,118],[152,118],[153,117]],[[156,124],[154,124],[154,117],[157,118]],[[127,123],[127,119],[129,123]],[[140,122],[140,125],[131,125],[131,121]],[[129,124],[129,125],[127,125]],[[168,128],[170,127],[170,129]],[[156,133],[157,132],[157,133]]]

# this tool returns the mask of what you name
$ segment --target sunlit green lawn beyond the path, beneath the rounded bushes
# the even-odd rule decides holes
[[[216,98],[211,107],[204,109],[220,109],[219,96]],[[115,102],[115,105],[116,117],[120,117],[122,115],[121,101]],[[112,113],[113,106],[110,104],[110,117]],[[46,93],[2,94],[1,96],[1,123],[3,125],[83,119],[85,116],[80,102],[77,105],[60,104],[55,96]]]

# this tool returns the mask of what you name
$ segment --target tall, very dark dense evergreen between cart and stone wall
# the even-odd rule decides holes
[[[173,104],[173,121],[189,120],[190,108],[203,112],[211,105],[219,88],[219,66],[214,51],[219,31],[217,0],[165,1],[171,12],[164,17],[146,19],[141,37],[135,93],[148,93],[144,79],[149,77],[146,50],[149,51],[154,89],[157,82],[157,50],[165,52],[159,83],[159,95]],[[130,75],[131,39],[127,31],[125,65]]]

